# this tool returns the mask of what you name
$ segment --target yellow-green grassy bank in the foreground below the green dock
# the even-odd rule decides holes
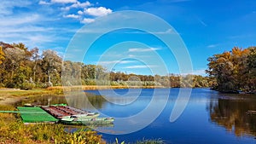
[[[0,106],[0,110],[15,110],[15,107]],[[29,124],[21,122],[19,114],[0,113],[0,143],[63,143],[104,144],[102,135],[86,127],[69,133],[62,124]]]

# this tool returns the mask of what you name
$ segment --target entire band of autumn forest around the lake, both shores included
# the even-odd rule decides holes
[[[213,55],[208,59],[207,73],[210,77],[191,74],[151,76],[108,72],[104,66],[63,61],[54,50],[47,49],[39,54],[38,48],[28,49],[24,43],[0,42],[0,87],[47,88],[62,85],[63,81],[65,85],[156,85],[253,91],[256,82],[255,55],[254,47],[234,48],[230,52]]]

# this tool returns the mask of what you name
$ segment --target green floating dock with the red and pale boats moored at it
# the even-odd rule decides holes
[[[23,123],[36,124],[85,124],[112,126],[114,118],[98,118],[98,112],[88,112],[74,107],[64,106],[41,106],[41,107],[17,107],[19,111],[0,111],[20,113]]]

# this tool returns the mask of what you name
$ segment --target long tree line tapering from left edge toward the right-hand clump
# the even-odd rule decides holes
[[[65,76],[63,78],[63,75]],[[212,78],[200,75],[137,75],[108,72],[104,66],[63,61],[56,51],[28,49],[24,43],[0,42],[0,87],[32,89],[65,85],[141,85],[211,87]],[[79,81],[78,81],[79,79]]]

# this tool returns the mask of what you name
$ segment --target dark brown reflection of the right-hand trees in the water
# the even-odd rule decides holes
[[[256,115],[247,114],[247,111],[256,110],[255,95],[220,96],[218,101],[210,101],[207,109],[212,122],[236,136],[256,136]]]

